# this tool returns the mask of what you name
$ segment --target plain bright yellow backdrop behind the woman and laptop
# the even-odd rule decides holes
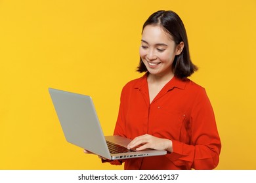
[[[141,76],[142,24],[160,9],[186,26],[223,143],[217,169],[256,169],[255,0],[1,0],[0,169],[123,169],[66,142],[48,88],[92,95],[112,135],[121,88]]]

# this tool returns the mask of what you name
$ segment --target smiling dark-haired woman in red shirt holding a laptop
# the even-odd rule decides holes
[[[152,14],[143,25],[137,69],[146,73],[124,86],[114,135],[133,139],[127,148],[168,154],[127,159],[125,169],[217,167],[221,141],[213,108],[204,88],[187,78],[196,70],[181,18],[173,11]]]

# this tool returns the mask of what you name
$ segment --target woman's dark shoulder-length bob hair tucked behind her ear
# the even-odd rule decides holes
[[[190,59],[186,29],[178,14],[171,10],[159,10],[157,12],[154,12],[148,18],[148,20],[146,20],[142,27],[142,32],[146,25],[161,26],[164,31],[171,35],[176,45],[180,42],[184,42],[184,48],[181,54],[175,56],[171,68],[173,69],[173,73],[177,78],[186,78],[188,76],[191,76],[195,71],[198,70],[198,67],[194,65]],[[137,67],[137,71],[139,73],[148,71],[141,58],[139,66]]]

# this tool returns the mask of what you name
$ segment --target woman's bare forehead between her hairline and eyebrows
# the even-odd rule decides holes
[[[142,31],[142,40],[147,42],[174,42],[173,37],[160,25],[146,25]]]

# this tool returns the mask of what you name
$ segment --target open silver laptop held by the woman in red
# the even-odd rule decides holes
[[[66,141],[107,159],[161,156],[165,150],[128,150],[131,139],[118,135],[104,136],[93,99],[89,95],[49,88]],[[114,150],[112,150],[114,148]]]

